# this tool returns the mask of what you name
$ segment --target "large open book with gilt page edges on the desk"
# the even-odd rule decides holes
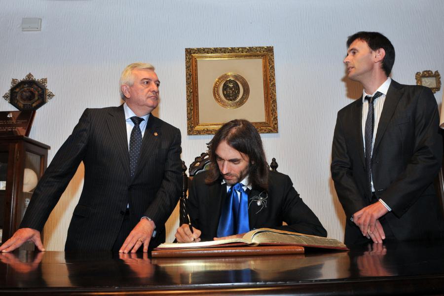
[[[257,247],[255,249],[260,250],[260,248],[265,246],[268,247],[269,250],[272,250],[273,248],[279,250],[278,247],[295,247],[293,248],[293,250],[296,249],[301,250],[301,252],[297,253],[304,253],[304,249],[296,247],[348,250],[347,246],[345,246],[343,243],[333,238],[325,238],[321,236],[270,229],[270,228],[259,228],[245,233],[245,235],[242,238],[231,238],[231,239],[223,239],[216,241],[198,242],[198,243],[165,243],[159,245],[156,249],[153,250],[151,254],[153,257],[155,257],[154,254],[157,254],[156,253],[157,251],[166,251],[166,250],[170,251],[182,250],[184,252],[186,251],[185,253],[188,254],[193,249],[199,249],[199,252],[203,250],[202,252],[204,252],[206,249],[210,250],[212,248],[218,248],[217,253],[220,253],[223,251],[222,248],[226,247],[228,248],[235,247],[236,250],[238,251],[239,250],[246,251],[251,247]],[[249,251],[247,251],[247,253],[248,252]]]

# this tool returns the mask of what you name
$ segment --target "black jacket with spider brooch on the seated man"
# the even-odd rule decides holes
[[[205,184],[208,172],[194,176],[189,187],[186,209],[193,226],[202,231],[202,240],[213,240],[217,236],[222,205],[227,196],[226,184]],[[268,193],[252,188],[248,195],[248,218],[250,229],[261,227],[282,229],[305,234],[327,236],[327,231],[316,215],[304,204],[297,194],[290,177],[270,172]],[[265,203],[257,204],[259,197]],[[282,222],[288,225],[282,226]]]

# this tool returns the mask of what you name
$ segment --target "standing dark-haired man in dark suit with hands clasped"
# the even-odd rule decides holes
[[[443,157],[435,97],[388,77],[395,49],[380,33],[356,33],[347,47],[348,77],[364,91],[337,113],[334,129],[331,169],[347,217],[345,243],[442,237],[433,186]]]

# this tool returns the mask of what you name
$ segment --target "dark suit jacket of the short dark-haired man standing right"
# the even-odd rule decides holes
[[[361,118],[359,99],[337,113],[334,129],[332,178],[347,217],[346,244],[363,237],[349,218],[371,200]],[[384,220],[396,239],[441,236],[433,180],[442,157],[439,113],[431,90],[392,80],[376,132],[371,170],[376,196],[392,209]]]

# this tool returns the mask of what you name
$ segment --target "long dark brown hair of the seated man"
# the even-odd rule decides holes
[[[231,148],[248,155],[250,160],[247,173],[250,185],[253,188],[267,190],[269,167],[263,151],[262,140],[254,125],[245,119],[234,119],[225,123],[207,144],[210,166],[205,183],[213,184],[222,178],[216,161],[216,149],[222,141],[226,141]]]

